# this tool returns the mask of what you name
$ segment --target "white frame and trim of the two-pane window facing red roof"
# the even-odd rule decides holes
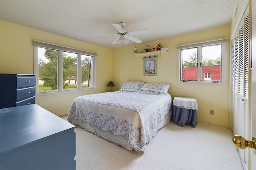
[[[196,48],[206,45],[216,45],[216,44],[222,44],[222,57],[221,57],[221,81],[214,82],[214,81],[201,81],[201,72],[197,72],[197,81],[183,81],[180,80],[181,77],[181,49],[187,49],[187,48]],[[197,52],[198,56],[201,56],[201,50],[198,50]],[[223,66],[226,66],[226,38],[223,39],[215,39],[210,41],[202,41],[197,43],[191,43],[191,44],[185,44],[185,45],[179,45],[177,46],[177,83],[178,84],[204,84],[204,85],[226,85],[226,69],[223,69]],[[200,63],[198,63],[198,66]]]

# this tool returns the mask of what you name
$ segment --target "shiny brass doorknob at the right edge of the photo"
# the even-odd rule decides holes
[[[233,143],[236,147],[240,149],[246,149],[247,147],[252,148],[254,154],[256,154],[256,137],[252,137],[252,141],[247,141],[244,137],[240,135],[235,135],[233,137]]]

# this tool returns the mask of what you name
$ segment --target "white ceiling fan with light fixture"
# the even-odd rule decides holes
[[[139,34],[147,34],[147,33],[149,33],[148,29],[143,29],[143,30],[138,30],[138,31],[131,31],[131,32],[125,31],[124,30],[124,26],[126,25],[125,22],[120,22],[120,24],[112,23],[112,25],[118,31],[116,34],[113,34],[113,35],[119,35],[119,37],[117,37],[115,39],[115,41],[113,41],[112,44],[119,43],[119,44],[124,45],[124,44],[129,43],[128,39],[139,44],[142,41],[137,39],[137,38],[132,37],[131,35],[139,35]]]

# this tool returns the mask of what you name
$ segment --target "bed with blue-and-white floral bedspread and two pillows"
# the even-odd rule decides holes
[[[125,81],[116,92],[79,96],[70,106],[68,121],[126,150],[146,150],[146,143],[170,122],[169,86]]]

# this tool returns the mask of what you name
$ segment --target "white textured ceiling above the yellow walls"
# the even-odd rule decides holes
[[[118,35],[112,23],[142,42],[230,24],[237,0],[0,0],[0,20],[110,49]],[[127,45],[136,44],[132,41]]]

